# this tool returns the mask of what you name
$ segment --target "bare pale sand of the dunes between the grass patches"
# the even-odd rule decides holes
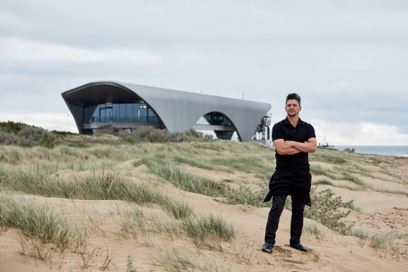
[[[372,186],[370,191],[354,191],[330,185],[319,185],[319,189],[330,188],[336,196],[342,196],[345,201],[354,200],[361,212],[352,211],[346,221],[353,223],[355,227],[380,234],[405,233],[408,229],[408,197],[402,194],[379,192],[379,189],[408,191],[408,162],[399,161],[402,164],[391,169],[402,177],[399,180],[385,181],[361,177],[363,182]],[[156,176],[146,173],[144,166],[136,167],[133,162],[134,160],[129,160],[117,164],[117,171],[123,171],[123,174],[130,176],[134,182],[147,182],[165,194],[187,201],[198,214],[221,215],[235,226],[238,230],[237,236],[231,243],[221,242],[224,248],[222,252],[197,248],[190,238],[169,237],[163,233],[148,235],[140,233],[137,238],[120,238],[119,224],[125,211],[132,210],[136,206],[134,203],[24,195],[24,198],[31,199],[35,203],[47,203],[57,213],[87,228],[90,237],[87,249],[89,252],[95,250],[96,255],[88,262],[90,266],[84,268],[84,261],[78,253],[61,254],[57,250],[50,249],[54,254],[54,263],[46,264],[38,258],[24,255],[20,232],[17,229],[8,228],[0,235],[0,271],[103,271],[101,268],[103,258],[109,254],[115,257],[105,271],[126,271],[128,255],[133,258],[137,271],[175,271],[171,270],[170,266],[166,270],[166,266],[161,264],[166,262],[166,256],[190,260],[194,268],[187,266],[187,271],[408,271],[407,252],[394,254],[391,249],[372,248],[369,245],[370,241],[364,242],[354,236],[342,236],[309,219],[305,219],[305,225],[316,226],[320,231],[319,236],[303,231],[302,243],[312,248],[312,251],[305,253],[290,248],[291,212],[288,210],[284,210],[279,222],[277,243],[272,255],[265,254],[260,249],[263,245],[269,208],[229,205],[215,201],[211,196],[184,192],[170,184],[163,185],[162,182],[155,181]],[[334,167],[330,163],[319,165],[330,169]],[[192,166],[186,166],[186,169],[213,180],[229,180],[233,186],[239,181],[247,182],[249,185],[261,181],[254,174],[239,171],[227,173]],[[371,170],[377,171],[375,168]],[[59,178],[66,180],[86,174],[86,171],[74,170],[57,173]],[[314,180],[318,178],[314,176]],[[162,222],[171,220],[167,213],[154,206],[139,208],[146,215],[157,217],[163,220]],[[406,234],[405,240],[401,241],[405,241],[405,244],[402,242],[399,245],[400,248],[406,250],[408,247]],[[167,262],[170,262],[169,259]]]

